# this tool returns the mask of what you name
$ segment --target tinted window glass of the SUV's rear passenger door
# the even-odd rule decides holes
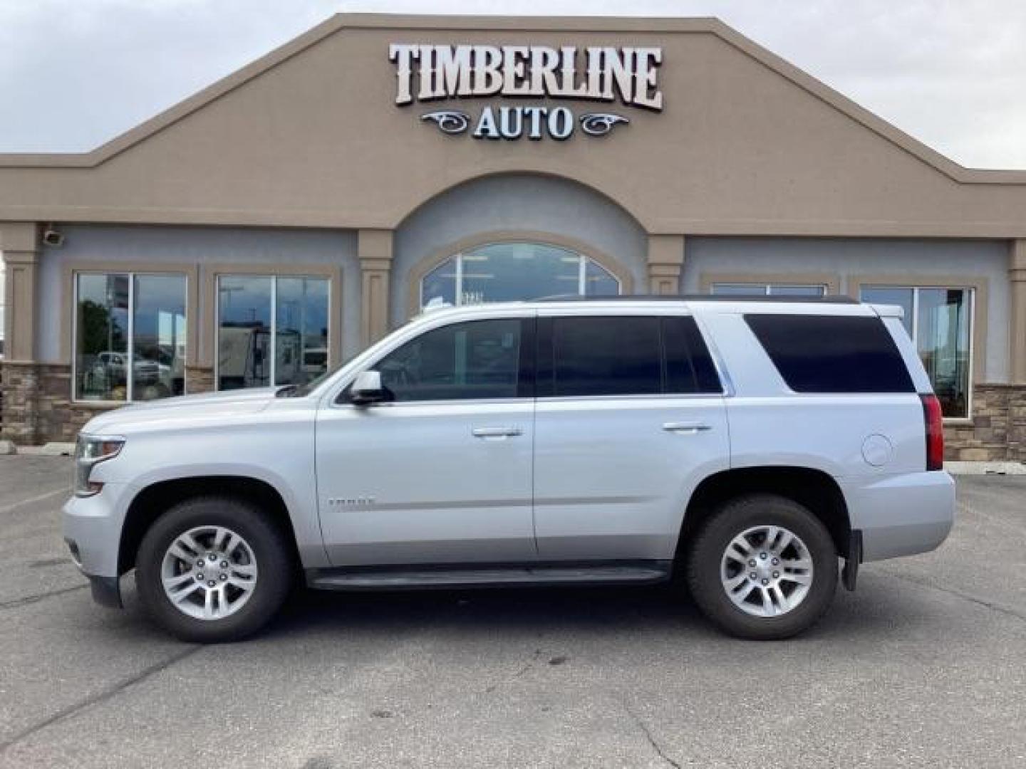
[[[540,318],[538,395],[722,392],[689,317]]]

